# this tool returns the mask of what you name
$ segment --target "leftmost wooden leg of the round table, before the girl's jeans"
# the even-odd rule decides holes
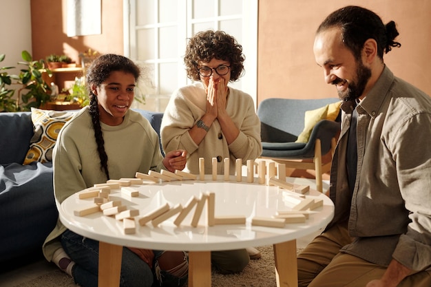
[[[98,287],[120,286],[123,246],[98,243]]]

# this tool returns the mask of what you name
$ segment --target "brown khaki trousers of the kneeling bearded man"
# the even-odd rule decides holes
[[[365,287],[380,279],[386,267],[372,264],[339,249],[350,243],[347,230],[333,226],[317,236],[297,257],[299,287]],[[398,287],[430,287],[431,271],[403,279]]]

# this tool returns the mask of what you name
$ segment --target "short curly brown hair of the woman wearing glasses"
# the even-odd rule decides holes
[[[189,39],[184,56],[187,77],[200,81],[198,62],[209,62],[212,59],[231,63],[231,82],[237,81],[244,72],[242,45],[226,32],[208,30],[198,32]]]

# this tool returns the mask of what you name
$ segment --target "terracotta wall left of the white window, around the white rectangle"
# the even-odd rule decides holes
[[[79,63],[78,54],[88,49],[102,54],[123,54],[123,1],[103,0],[102,34],[67,36],[67,0],[31,0],[34,59],[66,54]]]

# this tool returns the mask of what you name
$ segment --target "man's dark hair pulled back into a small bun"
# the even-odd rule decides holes
[[[380,17],[366,8],[346,6],[329,14],[319,25],[316,34],[328,28],[339,27],[344,45],[360,59],[361,50],[368,39],[377,42],[377,55],[383,60],[383,52],[387,54],[392,47],[401,47],[394,41],[399,35],[395,22],[383,24]]]

